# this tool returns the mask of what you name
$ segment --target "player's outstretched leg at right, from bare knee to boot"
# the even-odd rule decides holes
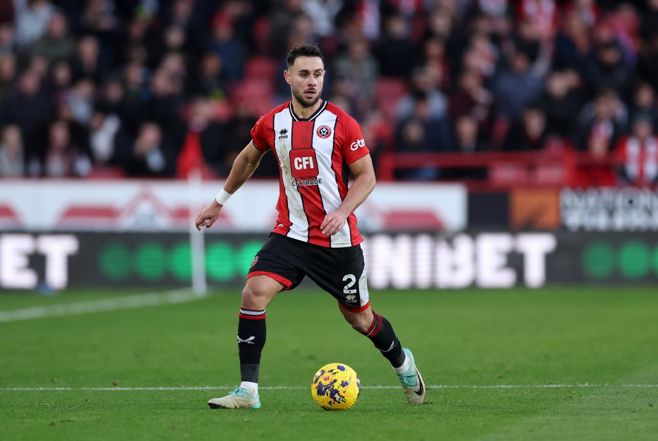
[[[390,361],[405,391],[407,401],[412,404],[424,402],[425,383],[416,367],[413,353],[408,348],[402,347],[392,324],[386,317],[372,311],[370,305],[367,309],[359,311],[345,306],[339,300],[338,306],[347,323],[367,336],[374,347]]]

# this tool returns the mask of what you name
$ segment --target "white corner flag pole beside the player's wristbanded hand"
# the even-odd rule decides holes
[[[199,169],[190,170],[188,173],[188,211],[190,211],[190,257],[192,265],[192,292],[197,296],[205,296],[207,293],[207,284],[205,278],[205,228],[197,231],[194,224],[197,212],[201,209],[196,200],[201,194],[201,171]]]

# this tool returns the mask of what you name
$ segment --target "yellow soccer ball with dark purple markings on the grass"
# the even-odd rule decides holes
[[[311,382],[311,396],[324,410],[347,410],[357,402],[360,393],[359,376],[344,363],[320,367]]]

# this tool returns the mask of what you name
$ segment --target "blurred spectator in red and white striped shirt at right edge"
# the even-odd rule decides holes
[[[632,133],[619,141],[615,156],[621,163],[621,184],[646,186],[658,182],[658,138],[651,115],[636,115]]]

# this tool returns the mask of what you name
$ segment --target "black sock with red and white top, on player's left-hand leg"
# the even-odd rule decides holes
[[[240,380],[258,382],[261,351],[265,346],[265,309],[240,309],[238,321],[238,353],[240,353]]]

